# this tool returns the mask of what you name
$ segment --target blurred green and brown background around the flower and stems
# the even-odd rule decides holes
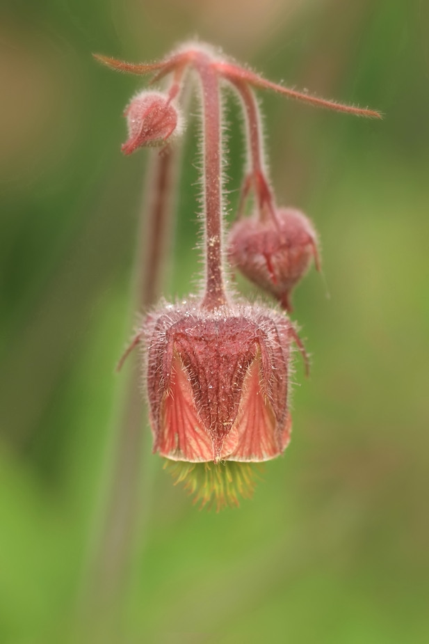
[[[294,298],[311,378],[298,364],[291,446],[239,510],[198,512],[145,458],[115,641],[428,642],[429,3],[0,6],[0,642],[79,632],[115,453],[113,368],[147,161],[120,154],[121,114],[144,83],[90,54],[152,60],[195,34],[270,79],[386,118],[262,97],[278,200],[311,216],[323,246],[327,286],[313,270]],[[228,119],[234,212],[234,103]],[[195,287],[193,125],[188,135],[170,297]],[[144,442],[149,453],[147,428]],[[83,627],[87,640],[107,636]]]

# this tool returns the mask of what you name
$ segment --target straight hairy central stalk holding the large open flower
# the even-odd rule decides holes
[[[195,61],[200,74],[204,130],[204,221],[206,285],[202,306],[213,311],[227,304],[222,258],[222,150],[220,143],[219,80],[209,56]]]

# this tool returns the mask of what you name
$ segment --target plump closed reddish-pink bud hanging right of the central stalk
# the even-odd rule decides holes
[[[314,258],[319,269],[317,235],[305,214],[292,208],[277,208],[275,219],[239,219],[229,233],[231,264],[250,281],[273,294],[291,311],[293,287],[307,272]]]

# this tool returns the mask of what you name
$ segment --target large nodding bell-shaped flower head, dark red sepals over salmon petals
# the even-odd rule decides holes
[[[261,462],[286,448],[291,322],[257,306],[168,305],[142,329],[154,452]]]

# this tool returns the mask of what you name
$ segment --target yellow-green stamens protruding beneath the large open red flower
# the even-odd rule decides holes
[[[224,461],[219,464],[188,463],[165,459],[163,469],[193,496],[193,503],[215,507],[216,512],[238,507],[238,498],[252,498],[263,466],[258,463]]]

